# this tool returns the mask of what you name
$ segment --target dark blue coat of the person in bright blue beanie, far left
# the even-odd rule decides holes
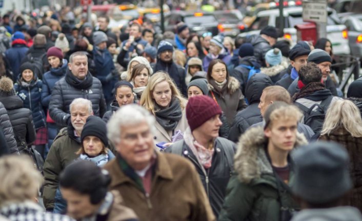
[[[19,74],[19,68],[22,64],[22,59],[25,57],[29,48],[24,44],[14,44],[11,48],[5,51],[5,57],[8,59],[11,70],[13,71],[13,81]]]

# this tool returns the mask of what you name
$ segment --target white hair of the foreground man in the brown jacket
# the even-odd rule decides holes
[[[112,115],[107,123],[108,139],[113,144],[117,144],[120,141],[120,127],[134,126],[144,122],[148,124],[153,134],[155,130],[155,117],[150,112],[136,104],[122,106]]]

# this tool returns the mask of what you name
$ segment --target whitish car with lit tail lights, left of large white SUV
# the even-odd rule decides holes
[[[245,30],[243,14],[239,10],[215,11],[214,15],[218,22],[219,32],[226,36],[235,37]]]

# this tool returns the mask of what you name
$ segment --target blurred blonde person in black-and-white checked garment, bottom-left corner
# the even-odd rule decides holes
[[[38,205],[38,191],[43,177],[28,156],[1,157],[0,177],[0,215],[10,220],[24,221],[73,220],[68,216],[45,212]]]

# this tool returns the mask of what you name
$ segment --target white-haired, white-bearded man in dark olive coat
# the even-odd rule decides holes
[[[54,197],[58,187],[58,176],[62,170],[77,158],[81,148],[81,134],[88,116],[93,115],[92,103],[84,98],[76,98],[70,104],[71,123],[55,137],[44,163],[44,206],[49,211],[54,208]]]

